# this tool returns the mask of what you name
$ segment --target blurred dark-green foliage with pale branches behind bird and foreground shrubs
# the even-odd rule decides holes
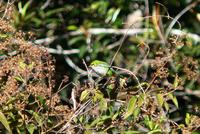
[[[199,116],[199,0],[6,3],[9,8],[2,12],[3,18],[29,35],[28,41],[45,47],[52,55],[55,90],[63,79],[68,79],[63,85],[75,82],[92,61],[113,60],[112,65],[128,69],[141,82],[150,83],[150,91],[175,91],[180,107],[169,115],[175,122],[184,122],[188,112]],[[71,89],[68,86],[62,90],[64,101],[70,99]]]

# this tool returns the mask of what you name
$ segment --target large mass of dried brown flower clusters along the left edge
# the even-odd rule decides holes
[[[43,47],[26,41],[24,33],[15,31],[8,22],[0,20],[1,110],[19,111],[25,122],[37,122],[37,119],[33,119],[36,113],[31,114],[31,111],[38,115],[42,112],[41,119],[59,116],[54,123],[64,118],[68,107],[60,107],[60,97],[52,92],[55,85],[53,64]],[[8,108],[8,105],[12,105],[12,108]],[[6,116],[8,120],[13,120],[9,114]],[[15,121],[20,119],[16,118]]]

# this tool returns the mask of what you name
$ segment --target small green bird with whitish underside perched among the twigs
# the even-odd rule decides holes
[[[115,70],[112,69],[111,66],[104,61],[94,60],[91,62],[89,67],[99,76],[113,76],[116,74]]]

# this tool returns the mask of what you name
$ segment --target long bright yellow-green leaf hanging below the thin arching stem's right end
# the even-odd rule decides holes
[[[129,100],[129,103],[128,103],[128,108],[127,108],[127,112],[125,113],[124,115],[124,118],[128,118],[130,115],[133,114],[134,110],[135,110],[135,105],[136,105],[136,101],[137,101],[137,98],[135,96],[133,96],[130,100]]]

